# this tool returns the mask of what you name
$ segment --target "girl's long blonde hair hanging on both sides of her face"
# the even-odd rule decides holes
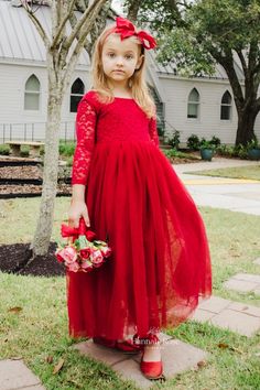
[[[111,102],[113,100],[113,95],[108,85],[107,76],[102,69],[102,47],[106,39],[113,33],[115,26],[106,28],[99,35],[94,54],[93,54],[93,88],[98,93],[99,99],[102,102]],[[138,40],[137,44],[141,45]],[[132,97],[140,106],[140,108],[147,113],[148,118],[155,116],[155,105],[150,96],[148,85],[145,83],[145,56],[144,48],[141,46],[141,54],[143,55],[143,61],[138,69],[134,71],[133,75],[129,78],[129,87],[132,91]]]

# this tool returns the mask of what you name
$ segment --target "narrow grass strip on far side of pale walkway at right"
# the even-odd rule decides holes
[[[187,173],[204,176],[248,178],[260,181],[260,165],[223,167],[219,170],[196,171]]]

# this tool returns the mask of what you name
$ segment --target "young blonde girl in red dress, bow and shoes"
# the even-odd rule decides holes
[[[160,329],[184,322],[212,292],[201,215],[159,149],[144,82],[144,52],[154,46],[121,18],[97,41],[94,89],[77,111],[68,220],[91,224],[112,256],[90,273],[67,272],[71,335],[142,350],[150,379],[163,371]]]

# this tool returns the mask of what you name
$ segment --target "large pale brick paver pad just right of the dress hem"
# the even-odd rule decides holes
[[[260,307],[212,296],[198,305],[192,319],[250,337],[260,329]]]

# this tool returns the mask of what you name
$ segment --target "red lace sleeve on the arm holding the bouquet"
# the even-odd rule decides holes
[[[77,145],[73,160],[72,184],[87,183],[91,153],[95,144],[96,111],[83,99],[77,109]]]

